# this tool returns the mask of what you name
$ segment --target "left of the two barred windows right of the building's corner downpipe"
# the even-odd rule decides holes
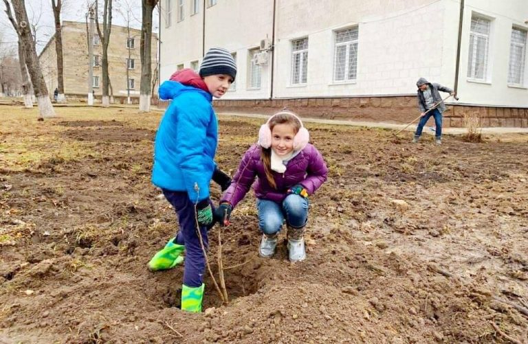
[[[470,56],[467,58],[467,78],[486,80],[489,28],[492,21],[473,15],[470,30]]]

